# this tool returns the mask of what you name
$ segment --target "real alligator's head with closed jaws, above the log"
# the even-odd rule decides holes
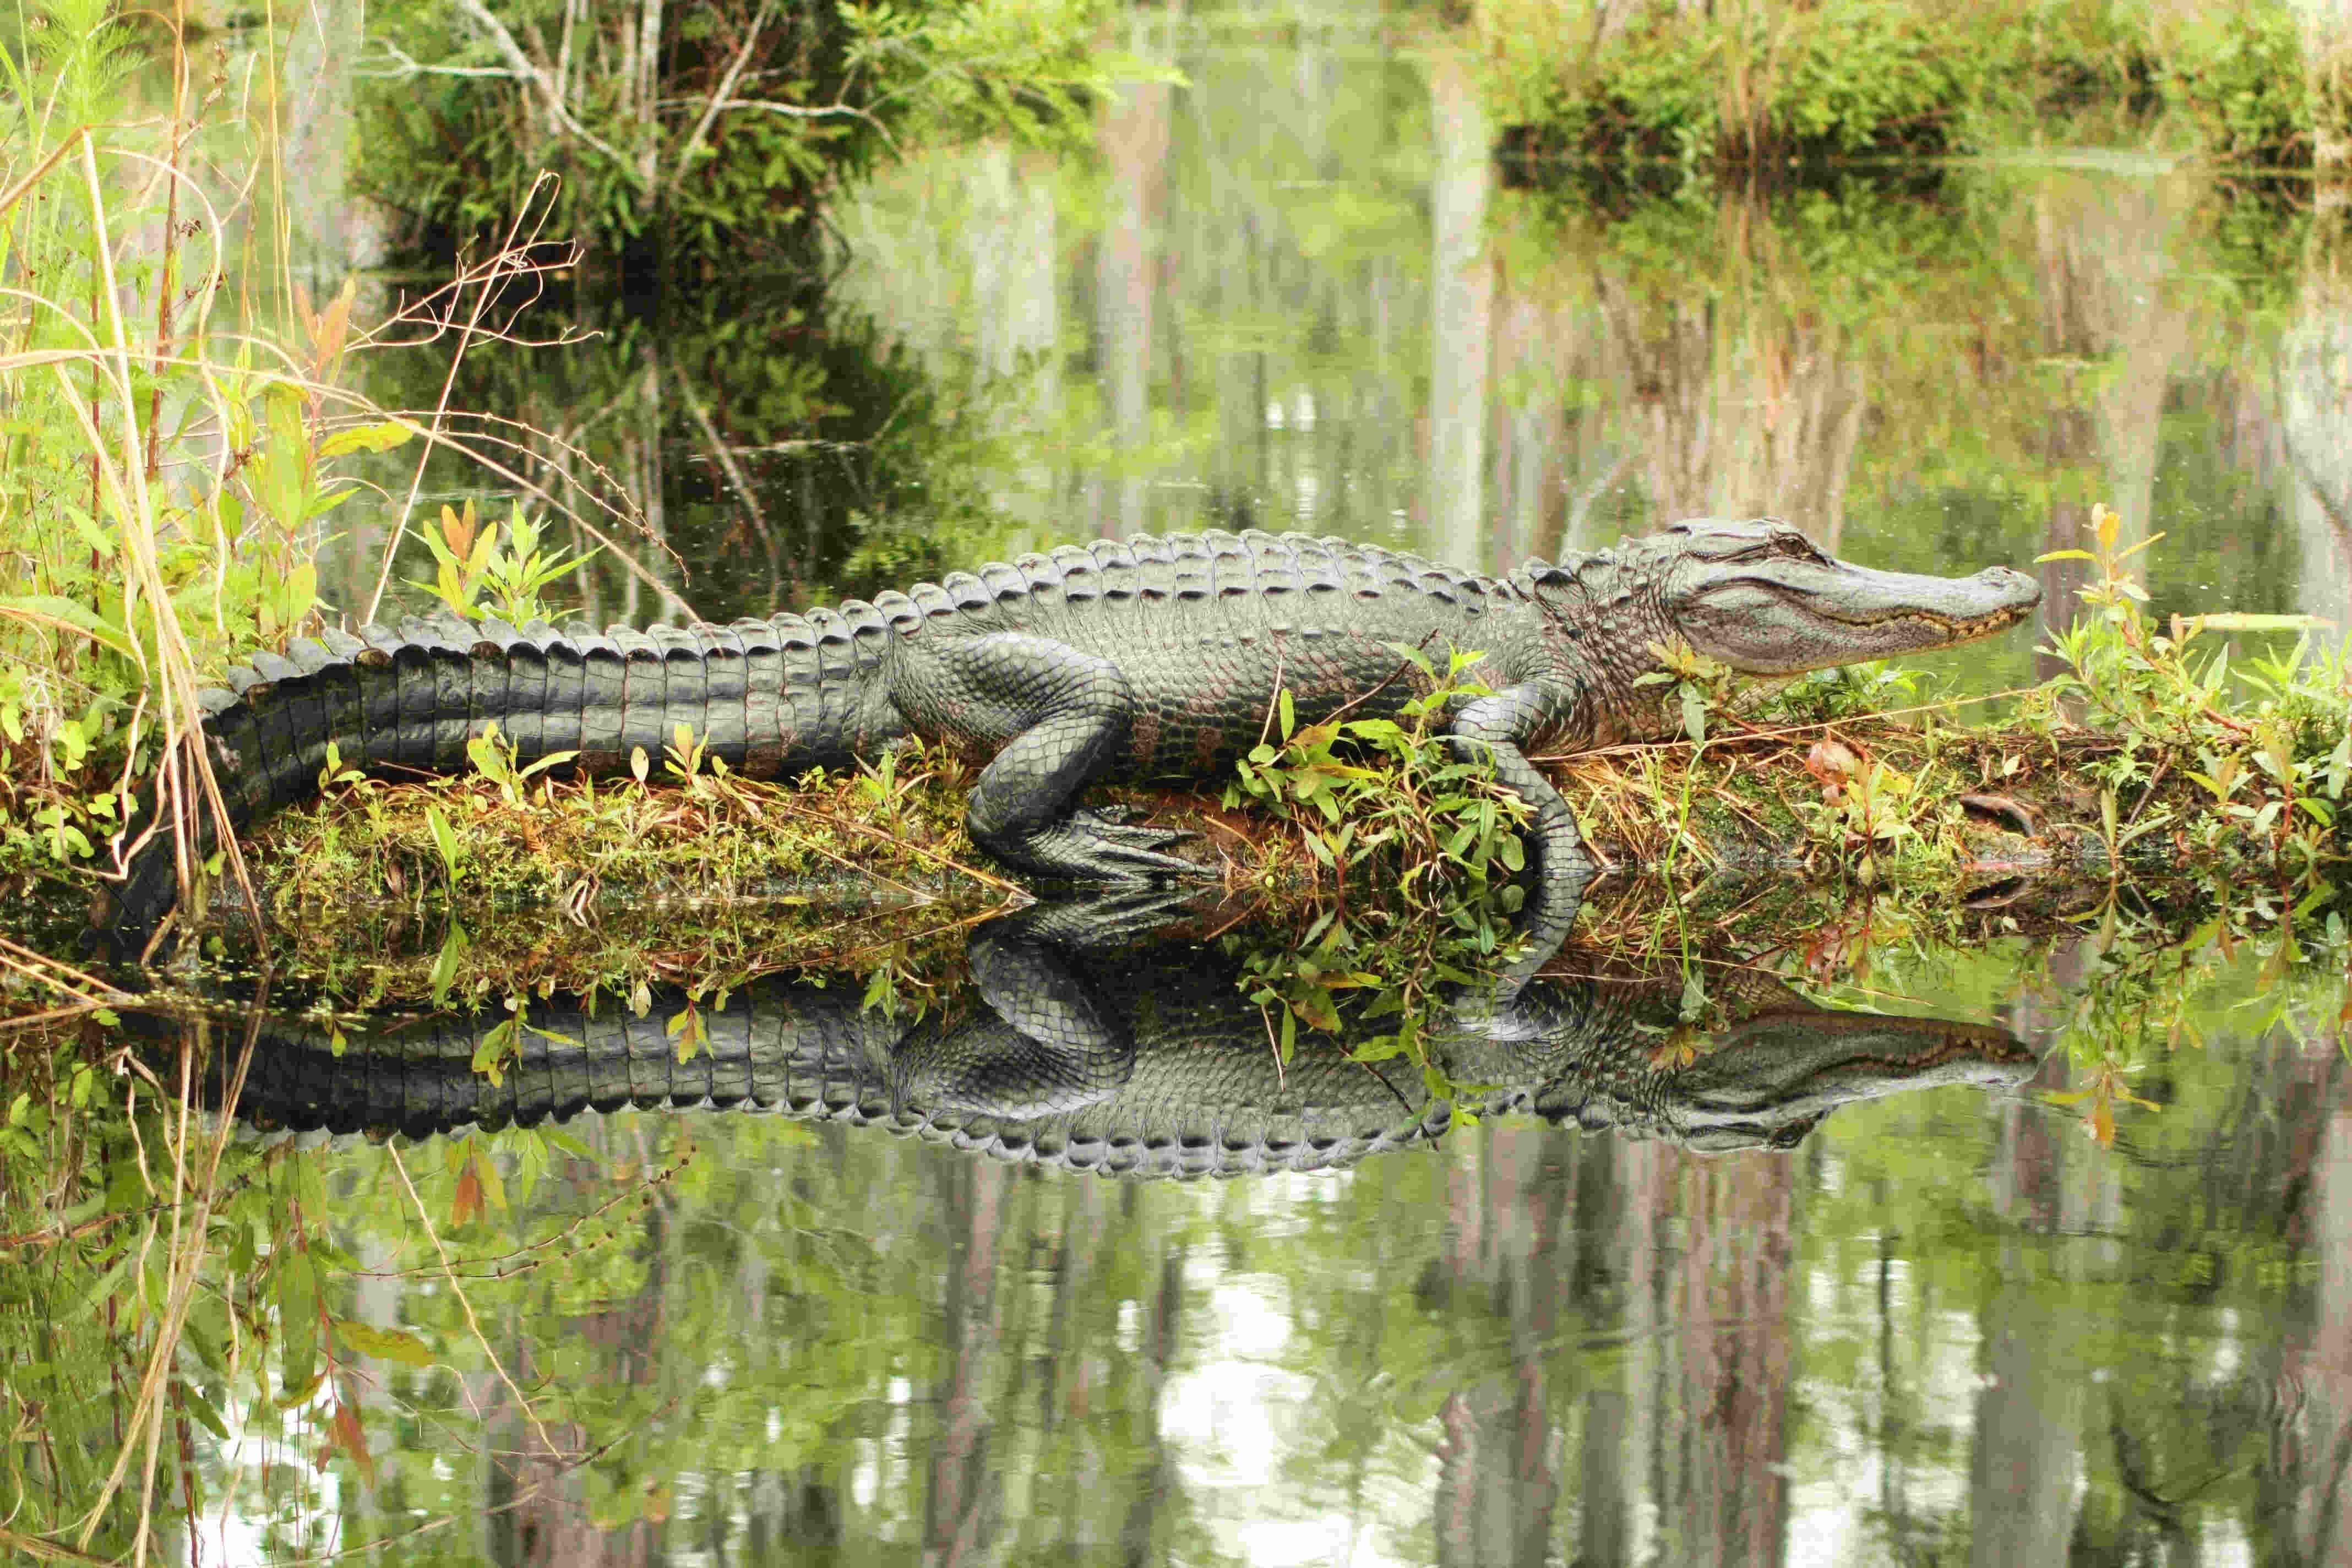
[[[1743,675],[1799,675],[1992,637],[2042,604],[2023,571],[1872,571],[1785,524],[1691,524],[1668,590],[1675,630]]]

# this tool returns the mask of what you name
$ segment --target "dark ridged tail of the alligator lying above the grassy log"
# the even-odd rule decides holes
[[[647,632],[412,618],[256,654],[198,701],[242,832],[318,792],[329,743],[369,773],[454,773],[492,724],[524,766],[569,752],[564,769],[614,773],[637,750],[659,766],[680,724],[753,778],[844,766],[903,736],[880,670],[891,637],[891,621],[861,602]],[[148,823],[153,792],[143,804]],[[212,853],[209,825],[200,849]],[[158,832],[113,898],[106,943],[136,952],[174,896],[169,835]]]

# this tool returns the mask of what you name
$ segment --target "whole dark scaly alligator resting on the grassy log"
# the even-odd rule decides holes
[[[1663,649],[1795,675],[1987,637],[2037,602],[2006,567],[1870,571],[1771,520],[1682,522],[1508,576],[1305,534],[1181,534],[731,625],[329,630],[256,654],[200,710],[238,830],[310,795],[329,745],[369,771],[456,771],[496,724],[517,762],[572,752],[576,769],[616,771],[684,724],[710,757],[771,778],[920,738],[985,759],[967,825],[997,860],[1122,884],[1200,867],[1169,853],[1181,835],[1082,806],[1089,783],[1214,778],[1263,738],[1277,691],[1301,724],[1395,717],[1430,686],[1409,651],[1444,663],[1454,649],[1482,656],[1489,693],[1458,701],[1446,733],[1529,806],[1526,922],[1559,933],[1592,867],[1526,752],[1656,733],[1642,677]],[[113,945],[143,947],[174,896],[158,832],[103,922]]]

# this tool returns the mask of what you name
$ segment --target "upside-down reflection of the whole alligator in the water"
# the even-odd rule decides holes
[[[1073,957],[1000,922],[971,943],[983,1006],[891,1023],[856,985],[764,980],[706,1006],[677,1060],[682,999],[644,1018],[534,1004],[494,1084],[470,1063],[503,1011],[346,1030],[261,1027],[238,1110],[296,1131],[440,1133],[586,1110],[739,1107],[849,1121],[997,1159],[1112,1175],[1240,1175],[1348,1166],[1442,1135],[1454,1105],[1416,1065],[1357,1063],[1305,1037],[1277,1067],[1261,1011],[1211,950]],[[1696,1150],[1788,1147],[1839,1103],[1924,1084],[2018,1084],[2032,1056],[1980,1025],[1839,1013],[1788,992],[1715,1037],[1675,1034],[1679,987],[1538,983],[1510,1037],[1451,1027],[1432,1056],[1489,1114],[1536,1112]],[[964,1013],[946,1023],[948,1013]]]

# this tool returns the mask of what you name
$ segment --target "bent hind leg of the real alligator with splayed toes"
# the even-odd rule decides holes
[[[1134,696],[1115,663],[1018,632],[915,644],[903,658],[898,710],[917,733],[1002,743],[964,813],[981,849],[1014,870],[1077,882],[1204,875],[1164,853],[1185,835],[1075,809],[1127,743]]]

